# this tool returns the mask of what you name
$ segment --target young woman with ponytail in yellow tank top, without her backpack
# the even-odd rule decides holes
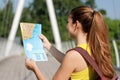
[[[78,47],[85,49],[96,61],[103,74],[112,78],[115,74],[108,40],[108,29],[100,12],[87,6],[72,9],[67,23],[70,37]],[[77,51],[68,51],[65,55],[51,45],[44,35],[40,35],[44,47],[61,63],[53,80],[94,80],[93,68]],[[26,60],[26,67],[32,70],[38,80],[46,80],[33,60]]]

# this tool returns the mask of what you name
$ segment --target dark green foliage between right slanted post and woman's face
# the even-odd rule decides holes
[[[70,10],[72,8],[83,5],[84,3],[80,0],[53,0],[53,3],[55,7],[61,39],[62,41],[69,40],[66,29],[67,17],[69,16]]]

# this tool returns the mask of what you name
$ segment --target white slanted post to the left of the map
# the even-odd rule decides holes
[[[15,39],[15,35],[16,35],[17,29],[18,29],[18,25],[19,25],[20,16],[21,16],[21,13],[22,13],[22,10],[23,10],[23,6],[24,6],[24,0],[19,0],[18,6],[17,6],[17,11],[15,13],[13,23],[12,23],[12,27],[11,27],[11,30],[10,30],[10,34],[9,34],[9,37],[8,37],[8,41],[7,41],[7,44],[6,44],[5,56],[8,56],[8,54],[11,50],[11,47],[12,47],[12,43]]]

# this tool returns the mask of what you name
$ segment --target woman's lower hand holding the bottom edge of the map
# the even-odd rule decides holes
[[[26,66],[27,69],[32,70],[32,71],[34,71],[35,68],[37,68],[37,65],[36,65],[35,61],[32,60],[32,59],[30,59],[30,60],[26,59],[25,60],[25,66]]]

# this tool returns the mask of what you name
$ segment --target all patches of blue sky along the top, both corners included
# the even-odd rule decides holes
[[[0,8],[4,6],[4,3],[7,0],[0,0]],[[14,8],[16,9],[17,3],[19,0],[13,0],[15,3]],[[33,0],[25,0],[25,6],[28,6]],[[120,20],[120,0],[95,0],[97,9],[105,9],[107,11],[107,16],[111,19]]]

